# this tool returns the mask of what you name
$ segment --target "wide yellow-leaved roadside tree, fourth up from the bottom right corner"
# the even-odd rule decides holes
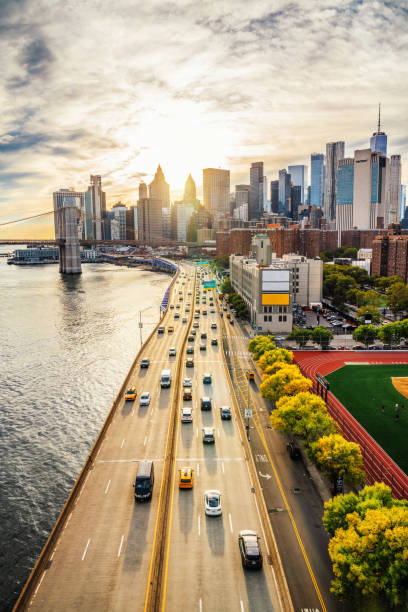
[[[307,444],[338,431],[324,401],[318,395],[307,392],[294,397],[281,397],[276,402],[276,410],[271,413],[271,423],[274,429],[299,436]]]

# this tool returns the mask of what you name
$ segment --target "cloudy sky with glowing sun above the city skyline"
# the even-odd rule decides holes
[[[249,182],[326,142],[369,146],[381,102],[408,183],[408,0],[0,0],[0,238],[53,237],[52,192],[102,175],[135,203],[160,163]]]

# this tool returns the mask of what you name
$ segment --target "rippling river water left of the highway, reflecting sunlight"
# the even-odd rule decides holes
[[[12,247],[1,247],[7,252]],[[140,347],[170,276],[0,258],[0,609],[10,610]]]

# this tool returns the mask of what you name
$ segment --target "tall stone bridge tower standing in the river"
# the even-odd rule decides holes
[[[60,272],[61,274],[81,274],[78,236],[80,208],[76,198],[70,196],[68,190],[65,197],[61,197],[63,195],[61,191],[54,193],[54,226],[55,238],[60,250]]]

